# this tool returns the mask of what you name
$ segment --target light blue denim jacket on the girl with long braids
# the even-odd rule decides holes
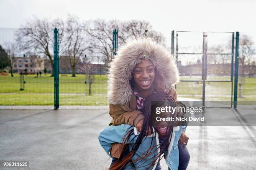
[[[108,126],[101,130],[99,135],[99,141],[102,148],[106,151],[106,153],[111,157],[110,155],[110,148],[113,143],[122,143],[122,139],[125,136],[126,132],[133,129],[133,126],[122,124],[118,126]],[[172,133],[172,140],[170,141],[170,145],[168,147],[168,150],[165,155],[165,161],[168,165],[168,167],[171,170],[177,170],[179,166],[179,149],[178,149],[178,140],[182,133],[182,126],[174,127],[173,133]],[[128,140],[129,150],[132,149],[133,144],[136,142],[138,136],[131,135],[131,137]],[[153,138],[153,139],[152,139]],[[144,139],[143,139],[144,140]],[[152,141],[153,140],[153,141]],[[138,148],[137,152],[132,158],[133,160],[136,160],[137,158],[141,158],[141,156],[145,156],[146,151],[150,148],[152,141],[152,150],[156,150],[157,145],[159,145],[159,138],[158,133],[155,131],[154,135],[148,135],[145,137],[145,140],[143,143],[141,143],[140,147]],[[148,168],[154,160],[154,158],[157,156],[157,154],[160,152],[160,150],[157,150],[156,153],[151,154],[148,156],[148,158],[143,159],[141,161],[137,161],[135,164],[128,164],[126,167],[127,169],[136,169],[136,170],[145,170]],[[150,152],[149,152],[150,153]],[[152,158],[152,159],[151,159]],[[158,160],[156,161],[157,164]],[[156,168],[156,164],[154,167],[151,168],[151,170],[154,170]]]

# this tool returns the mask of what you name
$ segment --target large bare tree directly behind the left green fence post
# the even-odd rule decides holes
[[[30,50],[33,53],[39,52],[47,56],[46,60],[51,63],[51,76],[53,76],[53,41],[54,28],[59,29],[59,53],[63,52],[64,22],[61,19],[50,20],[48,18],[39,19],[34,17],[18,30],[18,42],[23,50]]]

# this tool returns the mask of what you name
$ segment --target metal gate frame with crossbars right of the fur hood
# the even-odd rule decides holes
[[[207,32],[203,33],[203,45],[202,45],[202,53],[179,53],[178,49],[178,33],[179,32],[201,32],[201,31],[176,31],[176,37],[174,37],[174,30],[172,30],[172,45],[171,45],[171,53],[174,56],[174,38],[176,38],[176,52],[175,52],[175,61],[178,64],[178,55],[179,54],[189,54],[189,55],[202,55],[202,80],[180,80],[183,82],[199,82],[202,81],[202,107],[205,108],[205,82],[231,82],[231,108],[233,106],[233,72],[235,71],[235,84],[234,84],[234,106],[236,108],[237,104],[237,85],[238,85],[238,49],[239,49],[239,32],[236,32],[236,37],[234,37],[235,32],[223,32],[223,33],[232,33],[232,52],[231,53],[207,53]],[[211,32],[211,31],[208,31]],[[214,32],[212,32],[214,33]],[[236,62],[235,62],[235,70],[233,67],[234,64],[234,39],[236,39]],[[231,55],[231,74],[230,81],[229,80],[207,80],[207,55]],[[176,87],[176,85],[175,85]],[[229,108],[229,107],[228,107]]]

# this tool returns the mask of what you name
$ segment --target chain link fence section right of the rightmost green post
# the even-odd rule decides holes
[[[249,32],[240,32],[237,107],[256,109],[256,42]]]

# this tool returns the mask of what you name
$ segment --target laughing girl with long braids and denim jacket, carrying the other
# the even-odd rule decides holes
[[[151,105],[151,101],[154,101],[153,105]],[[108,126],[101,131],[100,144],[109,156],[111,156],[109,151],[113,143],[120,143],[122,148],[120,158],[110,166],[110,170],[160,170],[159,161],[163,157],[162,154],[164,154],[169,168],[172,170],[178,168],[177,144],[182,133],[182,126],[174,127],[174,122],[169,123],[169,126],[165,122],[154,123],[154,127],[152,126],[151,111],[155,112],[156,107],[165,106],[176,107],[174,99],[166,93],[153,92],[146,98],[143,109],[143,126],[141,133],[137,136],[134,135],[133,126],[124,124]],[[174,117],[176,115],[167,113],[166,116]],[[154,132],[149,136],[147,136],[148,128]]]

